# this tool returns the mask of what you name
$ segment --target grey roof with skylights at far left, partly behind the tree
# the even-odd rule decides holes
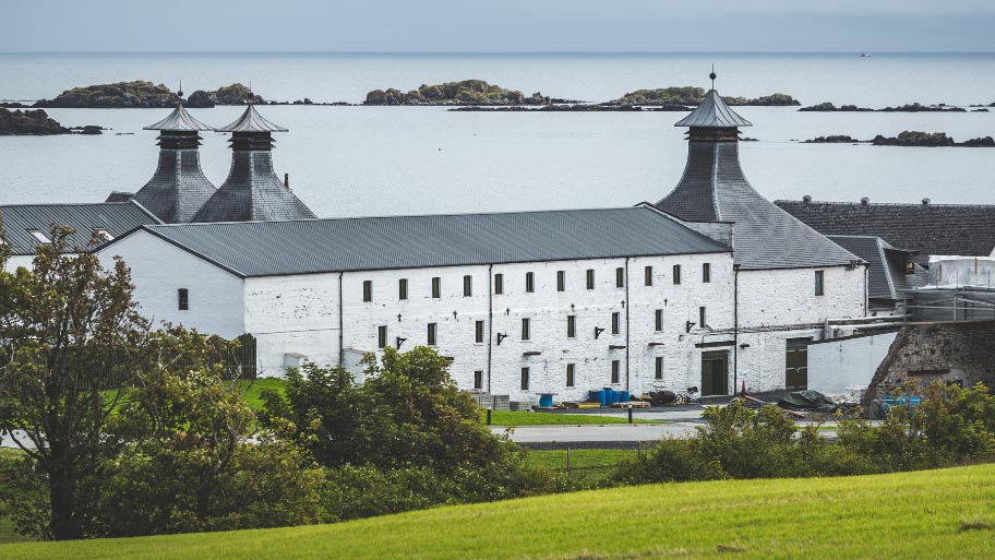
[[[0,206],[0,219],[14,254],[35,254],[39,242],[31,230],[50,237],[52,224],[76,230],[69,239],[71,247],[87,247],[94,229],[105,229],[118,237],[139,226],[160,224],[155,215],[135,202],[16,204]]]

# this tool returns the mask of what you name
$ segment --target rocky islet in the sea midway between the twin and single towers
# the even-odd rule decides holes
[[[506,90],[483,80],[464,80],[444,84],[425,85],[418,90],[373,90],[363,105],[544,105],[549,98],[541,93],[526,97],[517,90]]]

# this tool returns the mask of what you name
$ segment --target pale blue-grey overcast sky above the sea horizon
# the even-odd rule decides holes
[[[995,0],[0,0],[4,52],[995,51]]]

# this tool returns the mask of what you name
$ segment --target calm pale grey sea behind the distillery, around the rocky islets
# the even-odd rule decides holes
[[[148,80],[189,95],[233,82],[266,99],[361,103],[367,92],[481,79],[526,95],[603,102],[639,88],[775,92],[803,105],[883,108],[913,102],[995,103],[995,53],[38,53],[0,55],[0,99],[51,98],[89,84]],[[265,106],[280,176],[319,216],[372,216],[626,206],[657,201],[684,168],[679,112],[459,112],[444,107]],[[829,134],[906,130],[957,141],[995,135],[991,112],[799,112],[741,107],[743,168],[768,199],[995,204],[995,150],[804,144]],[[238,107],[191,109],[216,127]],[[0,136],[0,204],[96,202],[135,191],[157,162],[142,127],[165,109],[50,109],[98,136]],[[205,133],[206,176],[228,172],[227,138]]]

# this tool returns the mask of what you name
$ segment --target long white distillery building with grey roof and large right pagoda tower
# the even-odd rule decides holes
[[[687,165],[656,204],[147,225],[98,251],[147,317],[252,334],[262,374],[428,345],[460,388],[513,401],[804,386],[807,344],[866,315],[866,263],[750,186],[751,123],[715,90],[676,126]]]

